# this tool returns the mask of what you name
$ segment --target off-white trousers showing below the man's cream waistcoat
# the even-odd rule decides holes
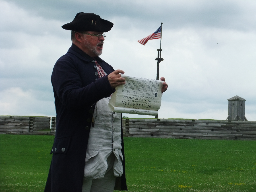
[[[108,169],[101,179],[84,179],[82,192],[113,192],[115,187],[115,179],[113,165],[115,155],[110,154],[107,158]]]

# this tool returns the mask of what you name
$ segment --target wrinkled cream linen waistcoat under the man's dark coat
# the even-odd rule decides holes
[[[108,168],[107,158],[113,152],[115,162],[114,176],[123,174],[123,155],[121,153],[121,113],[113,113],[108,109],[110,97],[96,103],[93,113],[94,127],[91,125],[85,166],[84,179],[103,178]]]

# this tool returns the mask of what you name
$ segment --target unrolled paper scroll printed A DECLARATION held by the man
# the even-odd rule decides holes
[[[164,81],[121,74],[125,84],[117,86],[108,106],[112,112],[158,115]]]

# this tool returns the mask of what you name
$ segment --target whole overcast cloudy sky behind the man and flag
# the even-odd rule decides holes
[[[146,2],[146,3],[145,3]],[[79,12],[114,23],[100,56],[127,75],[156,78],[163,22],[160,118],[222,119],[240,96],[256,121],[256,1],[0,0],[0,115],[55,116],[51,72],[71,46],[61,28]],[[152,117],[123,114],[128,117]]]

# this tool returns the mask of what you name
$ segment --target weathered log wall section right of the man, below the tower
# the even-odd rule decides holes
[[[256,140],[256,121],[125,119],[124,136]]]

